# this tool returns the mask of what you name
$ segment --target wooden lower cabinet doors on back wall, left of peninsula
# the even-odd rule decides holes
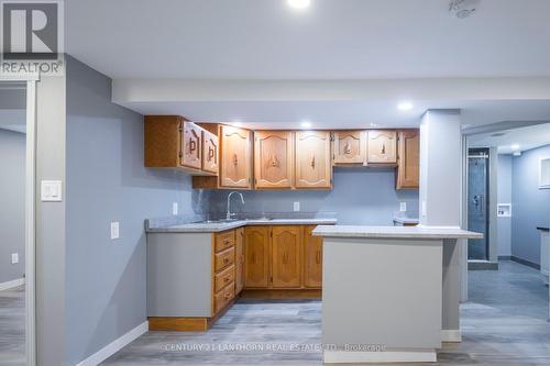
[[[321,289],[322,239],[312,236],[315,228],[316,225],[246,226],[244,289]]]

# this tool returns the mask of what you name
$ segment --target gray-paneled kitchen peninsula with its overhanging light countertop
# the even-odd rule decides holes
[[[436,362],[443,246],[483,235],[437,226],[321,225],[324,363]]]

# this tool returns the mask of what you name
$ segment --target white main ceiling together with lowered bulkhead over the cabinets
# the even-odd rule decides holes
[[[524,95],[524,88],[505,96],[506,87],[495,82],[498,92],[482,98],[460,89],[460,81],[443,79],[468,77],[472,85],[484,78],[479,80],[483,86],[491,84],[488,78],[550,76],[548,0],[482,0],[465,20],[449,15],[447,0],[311,2],[307,11],[296,12],[285,0],[70,0],[65,3],[66,51],[114,85],[129,79],[229,82],[211,87],[208,96],[191,90],[176,98],[170,86],[152,93],[141,85],[124,98],[113,97],[143,114],[280,129],[302,120],[316,127],[408,126],[429,108],[462,109],[465,124],[550,120],[546,95]],[[287,98],[261,88],[239,98],[215,98],[217,90],[237,92],[231,82],[250,80],[297,85],[279,92],[309,81],[342,85],[314,91],[309,86],[308,92]],[[388,80],[393,93],[380,97],[371,88],[331,99],[340,87],[355,88],[350,80],[374,81],[371,86]],[[453,98],[415,92],[432,80],[442,80],[438,90],[461,92]],[[147,98],[134,98],[147,88]],[[407,113],[396,110],[402,90],[416,106]],[[330,96],[318,98],[324,91]]]

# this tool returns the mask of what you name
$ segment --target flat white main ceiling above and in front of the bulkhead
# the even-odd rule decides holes
[[[550,1],[70,0],[66,51],[112,78],[355,79],[550,75]]]

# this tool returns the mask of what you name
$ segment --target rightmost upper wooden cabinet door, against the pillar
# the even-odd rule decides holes
[[[420,133],[418,130],[399,132],[397,189],[420,186]]]

